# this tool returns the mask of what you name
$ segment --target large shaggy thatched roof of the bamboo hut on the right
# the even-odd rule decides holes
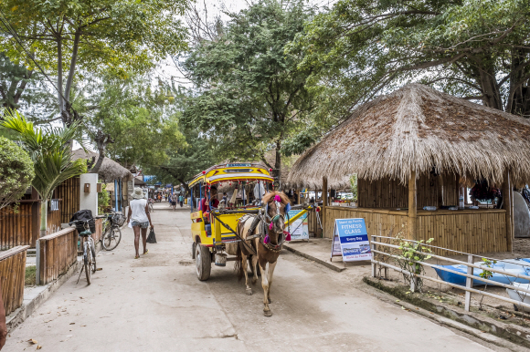
[[[508,169],[516,183],[530,181],[530,122],[420,84],[378,97],[292,166],[288,181],[331,188],[347,176],[406,182],[411,171],[450,170],[500,184]]]

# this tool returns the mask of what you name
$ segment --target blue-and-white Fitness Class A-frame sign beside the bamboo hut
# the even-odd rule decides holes
[[[340,243],[343,262],[370,260],[372,258],[365,219],[336,219],[332,256],[334,255],[333,248],[336,248],[336,241]]]

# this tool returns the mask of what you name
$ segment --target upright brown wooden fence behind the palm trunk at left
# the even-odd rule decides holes
[[[61,200],[58,201],[58,210],[48,207],[47,233],[60,230]],[[29,245],[35,248],[40,235],[40,201],[20,201],[16,211],[0,211],[0,249],[6,250],[17,245]]]

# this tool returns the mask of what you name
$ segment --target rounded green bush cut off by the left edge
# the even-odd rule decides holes
[[[26,151],[0,137],[0,209],[19,200],[35,177]]]

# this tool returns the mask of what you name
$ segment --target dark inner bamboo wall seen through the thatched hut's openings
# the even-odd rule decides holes
[[[362,208],[408,208],[408,185],[389,178],[367,181],[359,179],[358,205]],[[441,176],[423,174],[417,180],[418,208],[427,205],[457,205],[458,178],[452,173]]]

